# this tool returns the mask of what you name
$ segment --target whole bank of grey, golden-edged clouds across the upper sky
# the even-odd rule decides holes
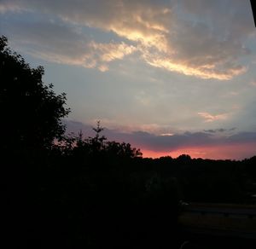
[[[29,47],[35,44],[36,36],[39,39],[48,32],[48,42],[38,40],[32,51],[45,60],[106,71],[110,61],[137,51],[152,67],[229,80],[247,70],[241,60],[250,54],[244,41],[253,33],[252,16],[248,14],[249,3],[241,2],[5,0],[0,3],[0,12],[39,13],[55,19],[57,25],[33,23],[28,30],[23,27],[26,36],[20,33],[24,35],[20,41],[25,40]],[[84,37],[84,27],[113,34],[119,41],[91,40]],[[56,35],[51,35],[53,32]]]

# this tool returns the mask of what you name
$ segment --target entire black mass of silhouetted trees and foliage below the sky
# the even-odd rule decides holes
[[[178,248],[179,200],[253,203],[256,157],[143,159],[102,136],[100,122],[94,137],[67,136],[66,95],[55,95],[43,74],[0,38],[4,226],[20,245]]]

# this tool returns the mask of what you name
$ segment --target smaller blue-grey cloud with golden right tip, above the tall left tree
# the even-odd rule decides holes
[[[9,27],[9,26],[7,26]],[[20,22],[9,27],[19,49],[46,61],[108,71],[111,61],[136,48],[124,42],[96,43],[73,26],[55,21]]]

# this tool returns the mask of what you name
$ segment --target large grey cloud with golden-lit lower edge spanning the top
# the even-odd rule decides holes
[[[115,53],[113,49],[104,54],[102,61],[122,59],[136,47],[152,67],[198,78],[229,80],[246,72],[247,67],[240,60],[250,54],[244,40],[253,33],[252,18],[247,13],[249,5],[233,2],[9,0],[0,3],[0,9],[51,14],[67,24],[113,32],[124,42],[133,43],[132,47],[124,43],[107,46],[115,48]],[[49,60],[53,58],[54,54],[48,55]],[[95,58],[91,60],[87,67],[93,65]],[[60,57],[57,61],[68,62]]]

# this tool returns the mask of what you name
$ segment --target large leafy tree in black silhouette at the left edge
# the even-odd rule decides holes
[[[49,148],[61,138],[61,119],[70,112],[66,94],[45,85],[44,67],[32,68],[0,38],[0,113],[2,148]]]

